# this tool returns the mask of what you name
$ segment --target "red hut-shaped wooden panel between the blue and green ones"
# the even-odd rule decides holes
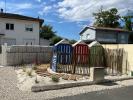
[[[86,75],[90,73],[89,47],[82,41],[73,45],[73,66],[73,73]]]

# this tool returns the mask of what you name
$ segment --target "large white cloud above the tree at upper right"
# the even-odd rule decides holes
[[[61,18],[69,21],[87,21],[92,19],[92,13],[99,8],[116,7],[121,15],[133,9],[132,0],[63,0],[58,3],[58,13]]]

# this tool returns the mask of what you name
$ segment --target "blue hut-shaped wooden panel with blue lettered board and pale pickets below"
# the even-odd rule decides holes
[[[53,48],[52,70],[72,73],[72,46],[60,43]]]

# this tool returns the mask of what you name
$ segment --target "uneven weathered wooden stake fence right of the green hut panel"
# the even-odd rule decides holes
[[[124,61],[124,53],[124,49],[105,49],[107,74],[116,75],[122,74],[123,70],[128,71],[127,64],[123,66],[127,61]]]

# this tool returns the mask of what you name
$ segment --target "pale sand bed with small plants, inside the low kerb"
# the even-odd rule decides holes
[[[35,84],[50,85],[50,84],[64,84],[64,83],[76,83],[76,82],[91,81],[91,80],[86,79],[84,77],[77,80],[77,81],[64,80],[64,79],[60,78],[59,82],[56,83],[56,82],[53,82],[52,79],[49,76],[42,77],[42,76],[37,75],[34,70],[32,70],[32,75],[29,76],[27,74],[27,72],[31,71],[31,70],[32,70],[31,68],[26,68],[25,72],[22,69],[15,70],[15,72],[17,74],[17,79],[18,79],[17,87],[21,91],[31,91],[31,87],[34,86]],[[51,73],[54,73],[54,72],[51,72]],[[125,78],[125,77],[129,77],[129,76],[127,76],[127,75],[106,76],[105,79],[119,79],[119,78]],[[35,80],[37,80],[39,83],[36,83]]]

